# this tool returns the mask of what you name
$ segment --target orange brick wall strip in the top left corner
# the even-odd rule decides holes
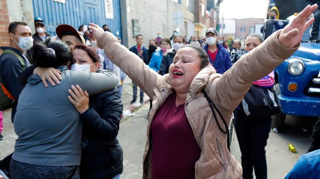
[[[9,45],[9,15],[6,0],[0,0],[0,46]]]

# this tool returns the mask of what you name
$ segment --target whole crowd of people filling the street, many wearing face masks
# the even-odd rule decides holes
[[[151,99],[143,179],[252,179],[253,169],[257,179],[267,179],[271,115],[252,117],[242,99],[252,86],[273,87],[273,69],[299,47],[317,7],[307,6],[266,42],[249,34],[243,45],[235,39],[230,49],[212,27],[205,38],[193,36],[188,42],[176,30],[170,38],[158,33],[148,48],[139,34],[128,49],[106,24],[78,30],[61,24],[52,37],[40,18],[33,35],[27,23],[11,22],[10,44],[0,47],[0,82],[12,102],[7,108],[12,107],[18,139],[14,152],[0,160],[0,175],[120,179],[123,151],[117,134],[128,75],[131,103],[137,87],[140,103],[144,93]],[[228,146],[233,113],[241,163]],[[2,118],[0,112],[0,140]],[[313,150],[288,179],[301,172],[309,176],[320,165],[319,150]],[[306,168],[303,163],[310,161]],[[312,175],[319,176],[319,170]]]

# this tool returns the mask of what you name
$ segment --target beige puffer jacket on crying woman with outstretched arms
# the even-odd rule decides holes
[[[223,75],[215,73],[213,67],[208,66],[193,79],[187,95],[185,111],[201,149],[200,158],[194,166],[196,179],[240,179],[242,176],[240,163],[227,149],[227,134],[222,133],[217,127],[209,103],[201,89],[205,89],[229,124],[232,112],[240,104],[252,82],[269,74],[297,49],[281,46],[277,39],[279,33],[280,31],[275,32],[263,44],[243,55]],[[151,179],[150,125],[157,110],[169,94],[174,92],[169,75],[160,76],[150,69],[137,55],[119,44],[111,33],[105,32],[99,38],[98,45],[103,47],[107,57],[153,100],[143,156],[143,179]],[[217,116],[223,127],[221,118]]]

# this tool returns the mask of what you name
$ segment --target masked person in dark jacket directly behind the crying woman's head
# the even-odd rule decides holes
[[[167,54],[163,56],[161,66],[160,66],[160,75],[165,75],[169,72],[169,67],[173,62],[173,58],[176,55],[176,52],[185,45],[186,40],[183,36],[178,35],[174,36],[172,49],[168,50]]]

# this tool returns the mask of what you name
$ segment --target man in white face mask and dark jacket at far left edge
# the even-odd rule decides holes
[[[32,33],[25,22],[11,22],[9,24],[9,46],[1,46],[3,50],[0,56],[0,75],[4,86],[15,98],[11,111],[11,121],[13,122],[17,111],[18,98],[24,86],[19,83],[20,73],[30,66],[26,56],[23,54],[33,45]],[[0,173],[10,177],[9,163],[11,155],[0,160]],[[4,177],[6,177],[4,176]]]

